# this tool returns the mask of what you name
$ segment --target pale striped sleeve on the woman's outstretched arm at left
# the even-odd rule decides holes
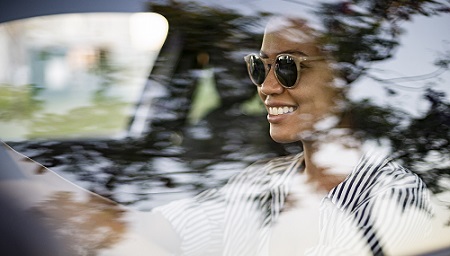
[[[231,177],[220,189],[210,189],[195,197],[174,201],[153,210],[164,216],[178,235],[180,253],[177,255],[206,256],[223,252],[226,223],[230,222],[230,218],[231,221],[242,221],[243,216],[239,213],[245,207],[240,207],[240,203],[248,201],[242,197],[247,195],[249,185],[255,185],[253,179],[258,176],[254,174],[262,166],[264,162],[254,163]],[[230,201],[234,203],[230,204]],[[230,207],[239,209],[233,211]],[[233,218],[236,214],[238,216]]]

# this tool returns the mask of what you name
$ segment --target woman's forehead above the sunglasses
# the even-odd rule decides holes
[[[319,47],[313,30],[302,21],[286,19],[269,21],[264,32],[261,52],[271,56],[289,51],[317,55]]]

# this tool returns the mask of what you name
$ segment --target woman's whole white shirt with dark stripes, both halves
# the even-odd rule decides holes
[[[273,227],[303,169],[302,154],[260,161],[220,189],[154,212],[178,234],[180,255],[269,255]],[[423,239],[432,209],[417,175],[387,158],[365,155],[323,198],[319,212],[318,243],[305,254],[383,255]]]

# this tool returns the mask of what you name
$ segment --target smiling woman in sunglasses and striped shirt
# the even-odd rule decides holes
[[[363,155],[342,118],[333,62],[302,20],[270,20],[245,57],[277,142],[303,152],[257,162],[218,190],[153,211],[180,255],[382,255],[423,239],[431,207],[423,182]],[[414,222],[414,225],[410,223]],[[161,239],[161,237],[159,237]]]

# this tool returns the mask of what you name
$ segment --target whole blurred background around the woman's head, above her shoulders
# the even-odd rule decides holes
[[[301,150],[270,139],[243,62],[295,14],[345,74],[358,135],[450,201],[448,2],[47,2],[0,8],[0,139],[75,184],[150,210]]]

